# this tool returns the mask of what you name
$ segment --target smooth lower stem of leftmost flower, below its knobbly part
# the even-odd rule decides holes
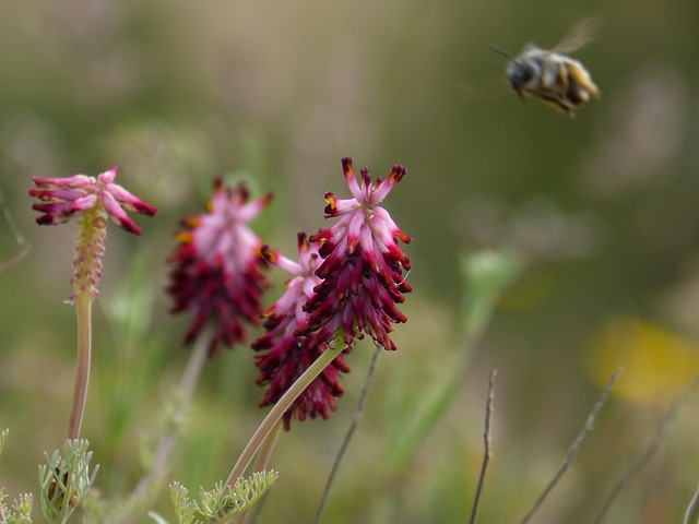
[[[78,360],[75,366],[75,389],[73,405],[68,420],[66,440],[78,440],[85,412],[87,383],[90,382],[90,356],[92,347],[92,289],[85,289],[75,297],[78,318]]]

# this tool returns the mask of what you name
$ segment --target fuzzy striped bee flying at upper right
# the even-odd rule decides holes
[[[522,100],[524,95],[534,96],[573,118],[576,110],[591,98],[600,99],[601,94],[585,67],[564,52],[572,52],[588,44],[594,25],[594,21],[581,21],[549,50],[528,44],[516,58],[493,50],[510,60],[507,76]]]

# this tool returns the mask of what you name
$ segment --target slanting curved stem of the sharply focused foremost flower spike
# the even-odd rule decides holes
[[[226,480],[227,486],[234,486],[236,480],[242,476],[245,471],[247,469],[252,456],[257,453],[257,451],[262,445],[265,437],[272,431],[276,422],[282,418],[284,413],[292,406],[294,401],[304,392],[306,388],[318,377],[323,369],[325,369],[330,362],[332,362],[337,356],[342,354],[341,349],[328,348],[325,349],[310,367],[304,371],[304,373],[292,384],[286,393],[279,400],[279,402],[272,407],[270,413],[264,417],[262,424],[258,427],[258,429],[252,434],[252,438],[246,445],[245,450],[238,457],[238,462],[230,471],[230,475],[228,475],[228,479]]]

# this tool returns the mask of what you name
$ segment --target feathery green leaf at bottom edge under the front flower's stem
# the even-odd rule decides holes
[[[225,523],[254,504],[268,490],[279,473],[253,473],[250,478],[239,478],[234,486],[216,483],[211,491],[201,490],[201,502],[189,499],[182,485],[170,486],[178,524]]]

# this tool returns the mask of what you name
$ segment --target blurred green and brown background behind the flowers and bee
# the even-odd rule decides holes
[[[74,224],[38,227],[32,176],[97,175],[159,214],[142,238],[111,228],[83,434],[97,486],[128,493],[139,444],[187,359],[186,318],[167,314],[165,260],[178,221],[212,178],[246,179],[275,201],[254,223],[289,254],[323,225],[324,191],[346,195],[340,158],[407,177],[386,202],[402,229],[414,293],[399,352],[382,355],[325,522],[464,522],[482,453],[487,377],[497,368],[494,458],[482,522],[517,522],[553,476],[614,369],[612,398],[534,522],[591,522],[624,468],[699,374],[699,33],[688,0],[417,2],[357,0],[8,0],[0,5],[0,458],[10,498],[36,492],[72,395],[74,319],[63,301]],[[580,19],[574,53],[603,92],[571,120],[522,104],[506,60],[550,47]],[[31,248],[27,248],[31,245]],[[502,298],[463,389],[415,461],[382,467],[396,380],[418,406],[460,350],[459,257],[514,249],[526,269]],[[279,296],[284,276],[270,272]],[[251,333],[256,336],[259,332]],[[330,421],[294,425],[260,522],[312,520],[352,418],[371,345],[350,358]],[[441,367],[440,367],[441,366]],[[192,491],[226,477],[261,419],[251,352],[204,370],[170,477]],[[390,395],[389,395],[390,396]],[[417,401],[415,401],[417,398]],[[604,522],[677,522],[699,481],[699,401]],[[38,502],[35,504],[38,510]],[[167,496],[153,508],[171,519]],[[37,512],[37,519],[38,519]]]

